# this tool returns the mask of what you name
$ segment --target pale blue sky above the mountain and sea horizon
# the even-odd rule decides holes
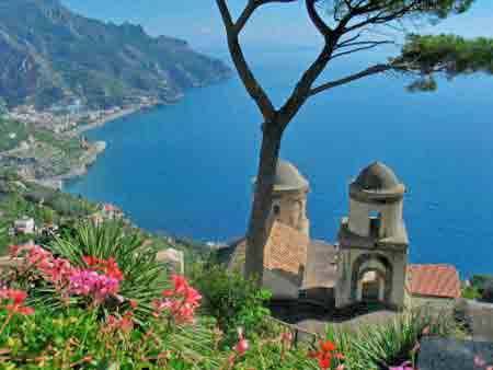
[[[193,45],[211,48],[223,43],[222,24],[214,0],[61,0],[72,10],[91,18],[142,24],[152,35],[167,34],[186,38]],[[239,9],[245,0],[229,0]],[[460,33],[465,36],[493,37],[493,1],[477,0],[466,15],[443,22],[433,32]],[[302,10],[302,1],[262,8],[244,41],[255,45],[307,45],[313,28]]]

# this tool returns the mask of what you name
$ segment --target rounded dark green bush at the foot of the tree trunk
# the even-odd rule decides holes
[[[217,319],[219,327],[234,337],[238,327],[246,336],[267,329],[265,317],[270,314],[264,302],[271,298],[259,289],[254,279],[229,271],[219,265],[196,264],[192,271],[193,285],[205,298],[205,310]]]

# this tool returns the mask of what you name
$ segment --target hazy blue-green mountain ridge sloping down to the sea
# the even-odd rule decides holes
[[[0,0],[0,97],[47,107],[80,99],[92,107],[136,96],[180,99],[230,74],[186,42],[140,25],[74,14],[58,0]]]

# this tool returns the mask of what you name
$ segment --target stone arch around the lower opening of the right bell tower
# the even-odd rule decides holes
[[[365,266],[370,262],[377,262],[376,266]],[[378,266],[380,265],[380,266]],[[352,266],[352,279],[351,279],[351,294],[353,302],[358,300],[358,285],[360,279],[368,271],[376,271],[379,277],[383,280],[383,300],[385,302],[390,302],[392,296],[392,278],[393,278],[393,266],[389,258],[379,253],[365,253],[362,254]]]

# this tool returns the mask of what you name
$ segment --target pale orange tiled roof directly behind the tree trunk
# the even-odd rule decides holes
[[[309,238],[298,230],[275,221],[264,248],[264,267],[271,270],[284,270],[298,275],[300,267],[307,264]],[[246,240],[232,245],[229,266],[239,267],[244,263]]]

